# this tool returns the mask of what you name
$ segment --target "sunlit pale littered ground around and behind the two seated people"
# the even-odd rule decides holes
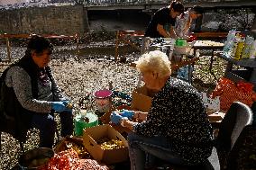
[[[98,45],[99,44],[99,45]],[[100,43],[94,43],[94,48],[100,47]],[[114,43],[107,42],[112,46]],[[63,52],[63,50],[65,51]],[[75,50],[70,46],[69,50]],[[126,63],[114,61],[114,55],[105,54],[86,54],[76,55],[74,51],[67,52],[67,48],[60,47],[55,50],[50,61],[53,75],[56,78],[60,89],[67,94],[72,103],[78,103],[81,98],[88,97],[88,108],[96,109],[93,94],[96,90],[108,88],[109,83],[113,82],[115,90],[131,95],[139,79],[139,73],[134,67],[130,67],[130,62],[139,58],[138,52],[126,52],[122,58],[126,58]],[[2,51],[2,52],[1,52]],[[0,52],[5,54],[5,47],[0,47]],[[13,48],[12,56],[15,58],[22,57],[24,48]],[[193,85],[199,91],[209,92],[215,88],[216,80],[209,74],[208,67],[210,63],[209,52],[202,51],[204,56],[194,67]],[[4,66],[5,65],[5,66]],[[6,66],[6,63],[0,63],[0,72]],[[217,78],[224,75],[226,63],[215,58],[214,72]],[[58,118],[57,118],[58,121]],[[11,169],[17,164],[17,158],[21,154],[21,148],[17,140],[9,134],[2,132],[1,135],[1,156],[0,169]],[[38,130],[29,130],[28,138],[24,144],[25,150],[37,147],[39,144]]]

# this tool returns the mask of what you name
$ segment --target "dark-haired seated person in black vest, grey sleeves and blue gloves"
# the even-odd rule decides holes
[[[54,112],[59,112],[61,137],[73,134],[72,109],[69,99],[59,90],[50,67],[50,41],[33,35],[23,58],[5,69],[1,97],[6,115],[14,117],[14,134],[24,138],[30,128],[40,130],[40,146],[52,148],[56,132]],[[2,106],[3,106],[2,105]]]

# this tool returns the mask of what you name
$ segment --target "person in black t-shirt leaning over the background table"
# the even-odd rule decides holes
[[[151,38],[177,38],[174,26],[176,17],[184,12],[184,6],[173,1],[169,6],[161,8],[152,16],[144,37]]]

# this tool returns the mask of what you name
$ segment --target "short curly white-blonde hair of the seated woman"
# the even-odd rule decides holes
[[[170,61],[167,55],[160,50],[145,53],[135,62],[138,71],[157,73],[160,77],[170,76]]]

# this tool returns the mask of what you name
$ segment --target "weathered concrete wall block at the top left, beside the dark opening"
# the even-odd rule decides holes
[[[83,35],[87,30],[87,11],[81,5],[0,11],[0,31],[7,33]]]

